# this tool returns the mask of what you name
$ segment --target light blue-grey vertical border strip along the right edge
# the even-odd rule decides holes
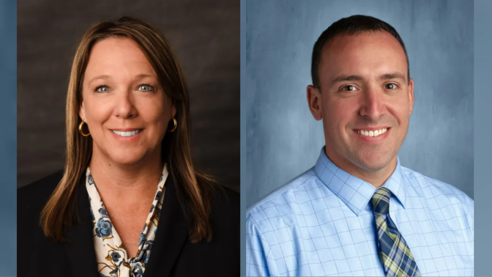
[[[474,26],[474,145],[475,145],[475,276],[490,276],[492,220],[492,1],[475,1]]]

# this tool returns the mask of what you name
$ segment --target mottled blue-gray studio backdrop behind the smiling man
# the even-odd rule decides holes
[[[473,1],[263,0],[244,6],[241,193],[247,207],[315,164],[324,137],[305,94],[312,48],[323,30],[354,14],[391,24],[407,47],[415,106],[401,164],[473,198]]]

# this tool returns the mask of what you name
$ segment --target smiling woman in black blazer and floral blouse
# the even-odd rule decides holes
[[[239,197],[192,163],[185,77],[155,27],[93,25],[66,111],[65,170],[18,190],[18,276],[239,275]]]

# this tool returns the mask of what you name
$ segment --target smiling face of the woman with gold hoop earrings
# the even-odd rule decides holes
[[[90,53],[79,115],[91,132],[93,157],[130,165],[160,157],[176,108],[138,45],[107,38]]]

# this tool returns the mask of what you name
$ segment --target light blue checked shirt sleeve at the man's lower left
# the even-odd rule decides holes
[[[246,221],[246,276],[275,276],[276,264],[265,236],[259,228]]]

